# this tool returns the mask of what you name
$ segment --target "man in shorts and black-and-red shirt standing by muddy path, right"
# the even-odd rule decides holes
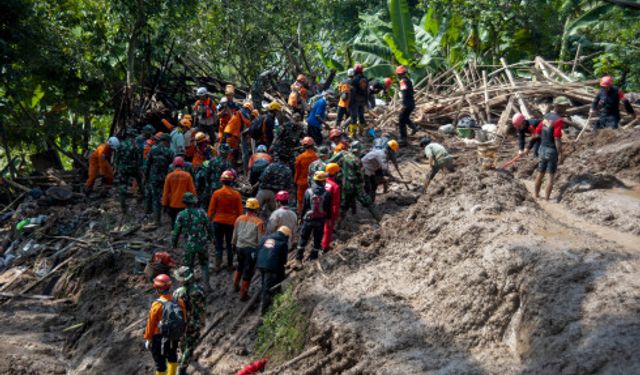
[[[540,138],[540,148],[538,149],[540,158],[538,162],[539,173],[536,177],[534,191],[536,199],[539,198],[542,180],[547,173],[549,173],[549,181],[547,182],[545,199],[549,200],[551,196],[558,164],[562,164],[564,159],[562,154],[562,129],[564,127],[562,116],[570,105],[571,102],[564,96],[555,98],[553,100],[553,110],[544,115],[544,119],[536,128],[535,137]]]

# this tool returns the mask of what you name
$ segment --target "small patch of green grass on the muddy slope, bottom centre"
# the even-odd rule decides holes
[[[290,358],[304,347],[308,322],[293,295],[293,286],[278,295],[258,330],[255,352],[278,362]]]

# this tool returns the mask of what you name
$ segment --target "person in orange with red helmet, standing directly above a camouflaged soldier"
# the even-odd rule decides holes
[[[189,172],[183,170],[184,166],[184,159],[181,156],[176,156],[176,158],[173,159],[173,167],[175,170],[169,173],[164,180],[162,206],[171,218],[171,227],[173,227],[173,224],[176,222],[176,216],[186,207],[182,201],[184,193],[189,192],[196,195],[193,177],[191,177]]]

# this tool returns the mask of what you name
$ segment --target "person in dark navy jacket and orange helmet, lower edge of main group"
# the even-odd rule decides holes
[[[262,239],[256,267],[260,270],[262,290],[260,292],[260,313],[267,312],[273,297],[280,292],[280,283],[284,281],[289,252],[289,238],[291,229],[281,226],[278,230]]]

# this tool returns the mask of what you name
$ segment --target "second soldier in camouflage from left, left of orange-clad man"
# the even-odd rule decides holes
[[[164,179],[167,177],[169,165],[173,162],[173,152],[169,148],[171,137],[163,133],[158,137],[158,144],[151,148],[147,159],[144,161],[145,201],[144,209],[147,214],[153,209],[153,217],[156,225],[161,224],[162,189]]]

